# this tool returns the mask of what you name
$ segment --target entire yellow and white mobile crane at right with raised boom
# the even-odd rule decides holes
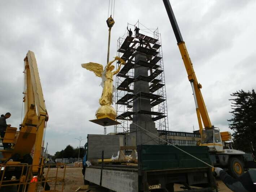
[[[196,115],[199,123],[199,132],[201,134],[200,145],[209,147],[209,151],[212,154],[211,160],[214,165],[228,168],[230,173],[234,176],[242,175],[244,168],[249,166],[251,168],[255,167],[252,155],[246,154],[240,150],[233,149],[230,143],[226,144],[225,141],[231,141],[230,132],[220,132],[219,128],[212,125],[202,93],[200,91],[202,85],[198,83],[196,78],[192,62],[188,55],[188,51],[185,42],[183,41],[172,7],[169,0],[163,0],[163,2],[188,74],[188,80],[190,81],[192,87],[196,105]],[[201,119],[203,121],[204,127],[202,125]]]

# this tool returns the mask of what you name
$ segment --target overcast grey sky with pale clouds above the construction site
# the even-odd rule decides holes
[[[171,4],[203,86],[211,122],[230,131],[230,93],[256,87],[256,1],[171,0]],[[107,16],[107,0],[0,1],[0,113],[12,113],[7,122],[13,127],[21,123],[23,58],[28,50],[35,52],[49,113],[50,154],[68,144],[77,147],[74,138],[79,136],[103,134],[103,127],[88,121],[99,106],[101,79],[81,64],[106,64]],[[161,33],[169,130],[198,128],[191,86],[161,0],[116,0],[110,57],[116,56],[117,39],[127,22],[135,24],[138,19]]]

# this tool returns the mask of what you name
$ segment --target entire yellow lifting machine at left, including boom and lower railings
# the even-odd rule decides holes
[[[6,129],[3,143],[12,143],[12,148],[0,151],[4,157],[0,163],[0,188],[16,184],[18,191],[34,192],[42,184],[44,191],[49,191],[50,187],[43,175],[43,146],[48,113],[32,51],[28,51],[24,59],[23,73],[24,119],[19,131],[15,127]],[[52,180],[47,178],[47,181]]]

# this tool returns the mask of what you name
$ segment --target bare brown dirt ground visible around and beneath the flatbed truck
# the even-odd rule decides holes
[[[63,176],[64,170],[63,169],[58,169],[58,176],[61,177]],[[52,168],[49,171],[49,176],[54,176],[56,174],[56,168]],[[221,192],[231,192],[229,188],[225,186],[225,184],[221,180],[217,180],[219,190]],[[51,186],[51,189],[54,189],[54,185],[49,183]],[[74,192],[79,186],[83,186],[83,174],[82,174],[82,168],[81,167],[66,167],[66,174],[65,174],[65,188],[64,192]],[[174,190],[175,191],[182,191],[180,188],[181,185],[175,184],[174,185]],[[56,189],[58,191],[62,190],[62,184],[57,183]],[[90,192],[109,192],[108,189],[99,187],[96,185],[91,185],[89,186]],[[86,191],[86,190],[80,190]]]

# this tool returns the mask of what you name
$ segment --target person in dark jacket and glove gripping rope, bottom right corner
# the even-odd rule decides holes
[[[214,171],[232,191],[256,192],[256,170],[250,169],[237,179],[234,179],[219,167],[216,167]]]

